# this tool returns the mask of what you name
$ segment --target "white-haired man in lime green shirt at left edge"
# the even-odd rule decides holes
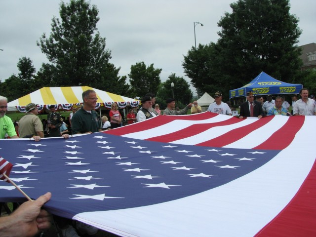
[[[5,134],[8,134],[10,138],[18,138],[12,119],[5,115],[7,108],[8,99],[0,96],[0,139],[5,138]]]

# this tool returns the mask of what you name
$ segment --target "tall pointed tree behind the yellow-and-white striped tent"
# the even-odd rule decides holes
[[[62,1],[59,13],[60,19],[52,18],[50,36],[43,34],[37,42],[50,62],[41,70],[40,79],[48,82],[50,77],[58,86],[118,88],[122,83],[119,69],[109,63],[111,51],[97,31],[97,7],[85,0],[70,0],[68,4]]]

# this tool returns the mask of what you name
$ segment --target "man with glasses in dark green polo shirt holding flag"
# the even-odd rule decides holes
[[[83,91],[82,100],[82,109],[78,110],[71,120],[71,128],[73,134],[93,133],[102,131],[98,114],[94,111],[94,108],[98,100],[95,91]]]

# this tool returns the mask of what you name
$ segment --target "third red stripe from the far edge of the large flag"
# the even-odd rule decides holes
[[[262,127],[263,125],[269,123],[272,120],[273,116],[268,116],[265,118],[260,118],[257,121],[238,127],[233,129],[221,136],[208,140],[206,142],[202,142],[197,144],[197,146],[205,146],[205,147],[224,147],[228,144],[238,141],[239,139],[243,138],[244,136],[248,135],[250,132]],[[237,118],[239,119],[239,118]]]

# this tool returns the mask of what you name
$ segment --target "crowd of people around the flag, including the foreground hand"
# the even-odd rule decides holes
[[[281,116],[312,116],[316,115],[315,97],[309,97],[309,90],[303,88],[300,91],[300,99],[298,95],[292,96],[292,112],[289,112],[290,105],[285,101],[284,96],[276,96],[275,100],[272,95],[267,96],[264,101],[262,95],[255,95],[248,92],[247,101],[240,104],[240,111],[238,118],[256,117],[263,118],[271,115]],[[207,111],[216,114],[232,116],[232,109],[230,102],[222,102],[223,95],[217,91],[214,94],[215,102],[210,104]],[[118,105],[113,103],[109,113],[109,118],[103,116],[99,118],[95,112],[96,102],[98,100],[95,91],[86,90],[82,93],[83,107],[73,107],[72,113],[69,116],[69,123],[72,129],[72,134],[94,133],[102,131],[102,129],[117,128],[122,125],[123,116],[118,110]],[[140,122],[148,118],[154,118],[158,115],[186,115],[191,109],[191,114],[201,113],[202,109],[198,106],[197,101],[189,103],[184,109],[175,109],[175,99],[168,98],[166,100],[167,107],[161,113],[159,105],[156,104],[155,94],[148,93],[141,99],[141,107],[139,110],[134,108],[128,111],[126,116],[127,124]],[[154,106],[154,107],[153,107]],[[47,120],[40,120],[38,117],[39,110],[36,104],[30,103],[26,106],[26,114],[19,120],[19,122],[12,122],[6,116],[7,98],[0,96],[0,138],[6,136],[10,138],[30,138],[35,141],[40,141],[44,137],[44,131],[47,129],[49,137],[63,137],[69,138],[68,127],[66,126],[60,113],[57,112],[56,105],[50,105],[50,114]],[[102,123],[100,122],[102,120]],[[45,128],[45,130],[44,130]],[[51,223],[51,215],[45,210],[41,209],[42,205],[51,197],[47,193],[35,201],[27,201],[23,203],[11,215],[0,218],[0,234],[1,236],[34,236],[40,230],[49,228]],[[86,233],[95,234],[97,229],[88,225],[77,223],[76,227],[72,225],[72,221],[66,218],[55,217],[56,222],[61,227],[64,237],[78,236],[77,232],[81,228]],[[16,225],[19,228],[16,228]],[[77,229],[76,229],[77,228]]]

